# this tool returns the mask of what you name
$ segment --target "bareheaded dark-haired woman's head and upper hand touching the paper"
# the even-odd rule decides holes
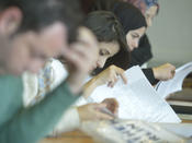
[[[84,25],[93,32],[99,40],[99,58],[95,68],[102,69],[109,58],[120,53],[122,56],[122,62],[126,61],[126,63],[128,63],[129,51],[125,34],[121,23],[113,13],[106,11],[92,12],[88,14]],[[95,74],[97,70],[92,72],[92,75]],[[106,83],[113,87],[117,81],[117,75],[121,75],[126,83],[123,69],[115,65],[108,67],[106,70],[93,76],[93,79],[84,85],[86,96],[89,96],[98,85]]]

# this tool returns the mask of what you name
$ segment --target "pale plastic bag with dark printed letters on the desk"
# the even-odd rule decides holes
[[[177,131],[172,131],[173,128]],[[180,123],[103,120],[82,122],[80,129],[100,143],[191,143],[190,132],[185,131],[187,136],[181,133],[181,130],[190,128]]]

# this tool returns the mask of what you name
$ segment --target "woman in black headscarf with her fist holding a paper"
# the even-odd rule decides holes
[[[140,32],[136,32],[135,26],[140,24],[140,23],[143,23],[143,24],[145,23],[144,22],[145,17],[142,15],[139,10],[132,7],[129,3],[122,2],[118,0],[105,0],[105,1],[94,0],[94,4],[92,7],[92,10],[109,10],[109,11],[114,12],[114,14],[120,19],[120,22],[122,23],[122,25],[124,27],[126,27],[126,25],[128,25],[129,29],[132,29],[132,31],[129,31],[129,36],[128,36],[128,33],[126,32],[126,38],[127,38],[127,44],[128,44],[129,50],[132,51],[138,47],[139,38],[144,34],[144,29],[143,31],[140,29]],[[139,20],[139,21],[136,22],[136,20]],[[128,24],[128,22],[131,24]],[[145,24],[145,27],[147,27],[147,23]],[[133,29],[137,33],[137,35],[138,35],[137,37],[133,36],[133,33],[134,33]],[[129,64],[129,62],[124,62],[122,64],[121,57],[122,56],[118,55],[116,57],[109,59],[104,69],[111,64],[115,64],[124,70],[131,68],[132,65],[135,65],[135,64],[133,64],[133,62],[131,62],[131,64]],[[131,56],[131,61],[132,61],[132,56]],[[121,62],[121,63],[118,63],[118,62]],[[172,79],[174,75],[174,70],[176,70],[176,68],[172,64],[166,63],[166,64],[153,68],[153,69],[150,69],[150,68],[143,69],[143,72],[145,73],[145,75],[149,80],[149,82],[154,85],[159,80],[167,81],[167,80]]]

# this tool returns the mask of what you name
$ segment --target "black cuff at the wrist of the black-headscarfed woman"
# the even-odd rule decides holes
[[[159,81],[155,79],[153,69],[142,69],[151,85],[157,84]]]

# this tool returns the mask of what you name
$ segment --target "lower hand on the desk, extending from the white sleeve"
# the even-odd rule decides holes
[[[106,104],[87,104],[78,107],[79,118],[81,121],[87,120],[112,120],[113,117],[102,112]]]

